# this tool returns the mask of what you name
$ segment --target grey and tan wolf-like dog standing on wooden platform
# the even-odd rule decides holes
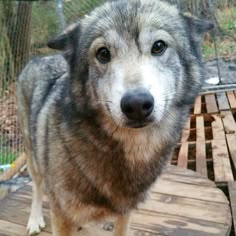
[[[17,81],[28,170],[28,233],[54,236],[130,214],[179,140],[204,79],[201,39],[213,24],[160,0],[118,0],[93,10],[49,42],[60,55],[29,62]]]

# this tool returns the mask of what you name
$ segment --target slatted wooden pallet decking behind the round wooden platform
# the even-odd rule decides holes
[[[236,180],[235,144],[236,92],[199,96],[172,164],[227,184]]]

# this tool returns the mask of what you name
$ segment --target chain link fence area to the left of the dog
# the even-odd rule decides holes
[[[52,53],[47,41],[102,0],[0,0],[0,175],[23,152],[15,81],[27,61]],[[55,53],[55,52],[53,52]]]

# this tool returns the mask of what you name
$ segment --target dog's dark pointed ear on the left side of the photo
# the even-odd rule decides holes
[[[79,35],[79,23],[74,23],[68,26],[61,34],[57,37],[50,39],[47,46],[52,49],[63,51],[63,55],[66,60],[70,59],[72,54],[72,47],[74,38],[78,38]]]

